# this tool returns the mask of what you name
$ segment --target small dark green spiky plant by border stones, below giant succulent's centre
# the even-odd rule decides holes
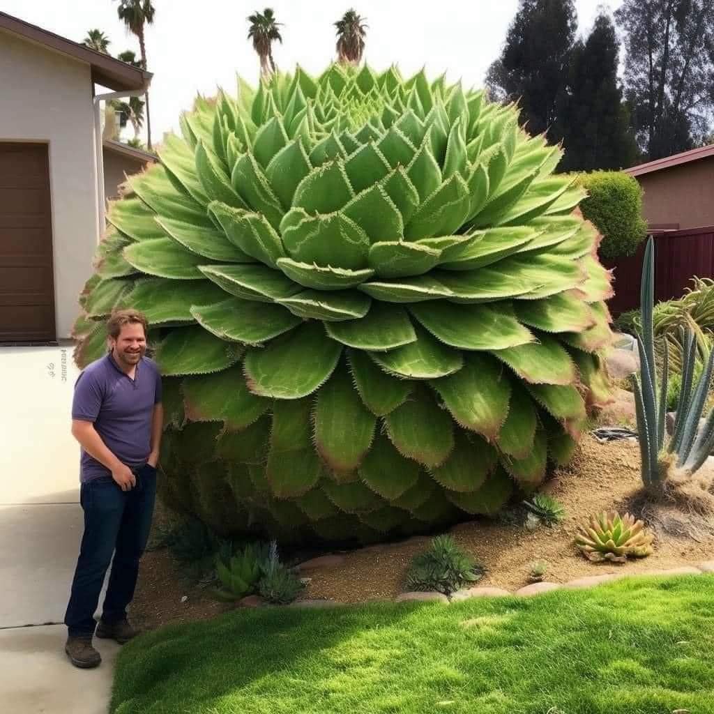
[[[412,558],[407,570],[408,590],[436,590],[451,595],[463,585],[476,583],[484,568],[456,545],[451,535],[438,535],[426,553]]]

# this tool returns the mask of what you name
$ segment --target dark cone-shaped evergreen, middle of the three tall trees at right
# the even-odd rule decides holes
[[[620,43],[607,14],[600,14],[586,41],[570,55],[568,100],[563,108],[563,171],[622,169],[638,149],[629,111],[618,86]]]

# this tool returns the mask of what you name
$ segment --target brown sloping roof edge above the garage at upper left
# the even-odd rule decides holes
[[[109,54],[97,52],[77,42],[49,32],[29,22],[0,12],[0,30],[11,32],[46,48],[65,54],[91,65],[91,78],[96,84],[114,91],[146,89],[153,76],[139,67],[132,67]]]

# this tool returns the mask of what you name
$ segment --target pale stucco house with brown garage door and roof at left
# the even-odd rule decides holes
[[[0,77],[0,344],[68,338],[105,193],[153,159],[102,141],[100,96],[151,73],[0,12]]]

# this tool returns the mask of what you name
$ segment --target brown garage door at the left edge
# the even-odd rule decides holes
[[[46,144],[0,142],[0,342],[54,340]]]

